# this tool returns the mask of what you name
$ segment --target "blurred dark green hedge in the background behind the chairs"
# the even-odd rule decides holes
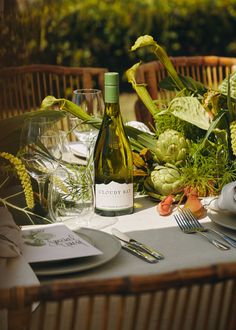
[[[2,0],[0,67],[33,63],[125,71],[150,34],[170,56],[236,56],[236,0]]]

